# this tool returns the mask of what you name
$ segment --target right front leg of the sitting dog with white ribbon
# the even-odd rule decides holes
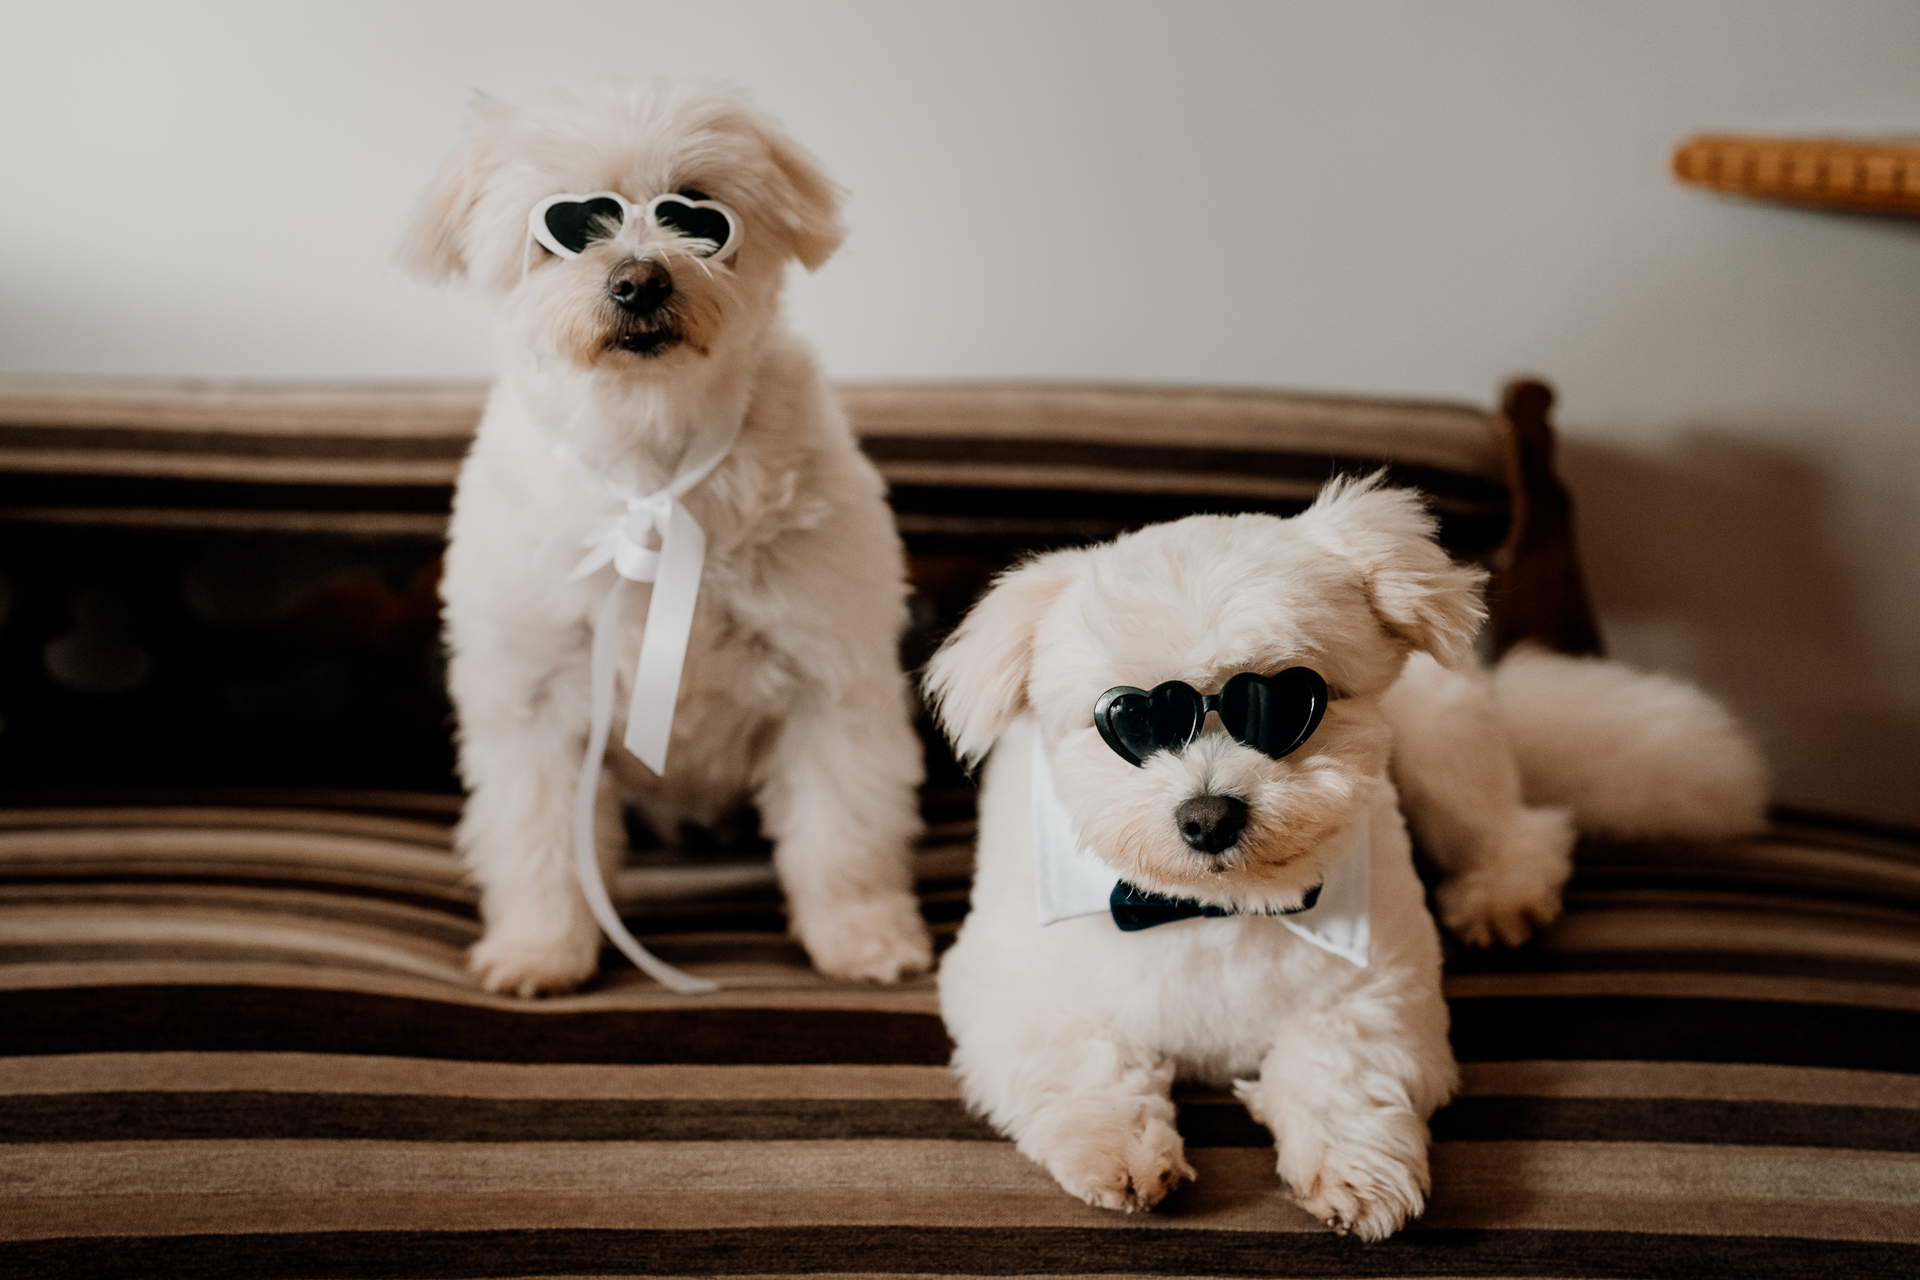
[[[828,977],[893,983],[933,963],[914,896],[920,739],[900,697],[795,708],[756,800],[793,936]]]

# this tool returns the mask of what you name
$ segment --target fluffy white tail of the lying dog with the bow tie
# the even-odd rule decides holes
[[[1766,821],[1766,760],[1693,685],[1521,647],[1494,691],[1526,804],[1571,810],[1582,833],[1722,841]]]

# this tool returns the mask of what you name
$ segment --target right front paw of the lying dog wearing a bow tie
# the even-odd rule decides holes
[[[1390,1128],[1417,1128],[1394,1134],[1386,1146],[1411,1150],[1396,1153],[1354,1142],[1317,1142],[1290,1134],[1281,1144],[1281,1176],[1294,1201],[1342,1236],[1386,1240],[1407,1219],[1427,1207],[1427,1126],[1411,1117],[1386,1121]]]

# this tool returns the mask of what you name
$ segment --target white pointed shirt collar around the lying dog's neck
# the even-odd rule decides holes
[[[1075,915],[1106,915],[1119,877],[1077,839],[1068,806],[1054,791],[1054,766],[1041,741],[1041,727],[1029,720],[1027,731],[1033,737],[1033,887],[1039,919],[1052,925]],[[1369,810],[1361,810],[1359,821],[1334,841],[1342,844],[1342,852],[1327,867],[1319,900],[1306,912],[1277,919],[1313,946],[1365,969],[1373,938]]]

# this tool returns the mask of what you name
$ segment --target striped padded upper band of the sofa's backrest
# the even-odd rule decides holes
[[[843,393],[887,480],[916,493],[1300,501],[1325,480],[1329,459],[1352,459],[1369,466],[1390,461],[1430,480],[1444,510],[1505,507],[1500,441],[1486,413],[1467,405],[1089,386],[916,384],[854,386]],[[200,520],[225,528],[438,533],[482,401],[484,388],[472,384],[13,378],[0,382],[0,472],[42,484],[12,486],[0,514],[63,524],[186,524],[198,510]],[[75,478],[94,484],[73,486]],[[100,480],[167,501],[117,503],[115,514],[104,516],[111,509],[100,499],[109,489]],[[142,482],[146,487],[136,487]],[[161,487],[167,482],[205,487]],[[207,501],[213,484],[234,487]],[[334,493],[340,487],[353,487],[361,503],[346,507]],[[286,503],[288,489],[330,501]],[[92,501],[63,501],[75,493]],[[1018,507],[1008,497],[996,505]],[[407,514],[419,518],[403,522]],[[1054,510],[908,512],[906,530],[981,528],[954,526],[939,514],[1018,520],[1018,532],[1052,532],[1046,520],[1058,518]],[[1079,518],[1094,522],[1102,535],[1129,524],[1112,509]]]

